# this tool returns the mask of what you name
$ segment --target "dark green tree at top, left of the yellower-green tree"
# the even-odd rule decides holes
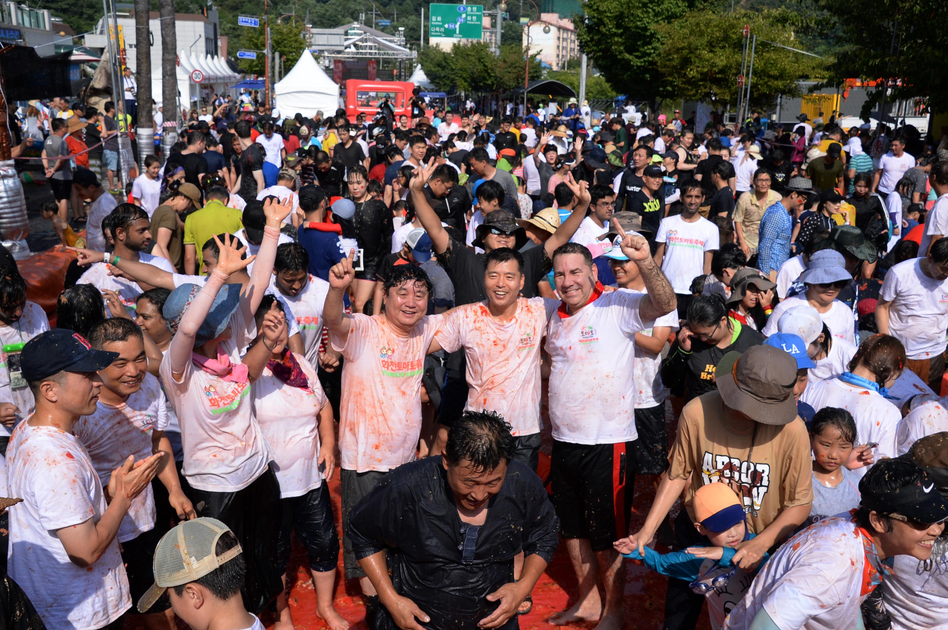
[[[665,76],[657,67],[664,45],[658,26],[684,15],[685,0],[586,0],[576,16],[579,47],[606,81],[634,99],[652,103],[665,96]]]

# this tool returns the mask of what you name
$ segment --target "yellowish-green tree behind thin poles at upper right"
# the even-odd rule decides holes
[[[798,47],[793,41],[795,14],[783,9],[761,12],[694,10],[657,30],[664,45],[658,58],[665,87],[676,98],[728,104],[738,100],[738,75],[744,25],[757,35],[751,104],[769,105],[779,94],[798,96],[800,79],[825,76],[822,60],[764,42]]]

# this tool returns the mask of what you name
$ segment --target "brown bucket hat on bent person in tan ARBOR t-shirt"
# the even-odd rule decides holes
[[[789,424],[796,418],[796,361],[771,346],[730,351],[715,371],[724,405],[761,424]]]

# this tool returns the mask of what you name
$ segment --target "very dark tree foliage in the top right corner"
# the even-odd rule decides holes
[[[830,67],[830,80],[888,79],[887,102],[928,97],[934,112],[948,111],[948,78],[941,61],[948,55],[948,5],[937,0],[834,0],[826,3],[842,25],[846,46]],[[870,95],[864,116],[883,97]]]

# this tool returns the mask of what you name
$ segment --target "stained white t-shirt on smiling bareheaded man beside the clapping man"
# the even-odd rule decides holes
[[[72,427],[73,435],[85,446],[102,486],[109,485],[112,471],[134,455],[136,461],[152,456],[152,435],[168,426],[165,395],[151,374],[145,374],[141,388],[124,404],[106,405],[99,401],[96,412],[82,416]],[[155,528],[155,495],[146,486],[132,499],[132,505],[118,526],[118,542],[124,543]]]

